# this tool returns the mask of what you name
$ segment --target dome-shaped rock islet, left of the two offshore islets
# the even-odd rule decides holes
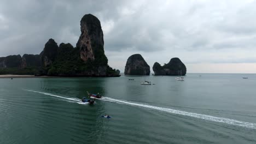
[[[144,58],[135,54],[127,59],[125,65],[125,75],[149,75],[150,67]]]

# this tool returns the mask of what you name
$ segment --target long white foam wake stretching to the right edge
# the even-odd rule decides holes
[[[256,123],[237,121],[235,119],[229,119],[229,118],[223,118],[223,117],[214,117],[214,116],[209,116],[209,115],[202,115],[202,114],[199,114],[199,113],[173,110],[173,109],[168,109],[168,108],[164,108],[164,107],[151,106],[151,105],[138,104],[138,103],[131,103],[129,101],[118,100],[118,99],[113,99],[113,98],[108,98],[108,97],[103,97],[101,100],[106,100],[106,101],[115,102],[115,103],[119,103],[119,104],[127,104],[127,105],[132,105],[132,106],[138,106],[138,107],[146,107],[146,108],[149,108],[149,109],[164,111],[164,112],[168,112],[168,113],[174,113],[174,114],[177,114],[177,115],[189,116],[189,117],[194,117],[194,118],[205,119],[207,121],[220,122],[220,123],[226,123],[226,124],[238,125],[238,126],[241,126],[241,127],[256,129]]]

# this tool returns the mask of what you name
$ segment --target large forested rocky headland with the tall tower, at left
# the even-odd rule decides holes
[[[47,76],[120,76],[104,54],[100,20],[86,14],[80,21],[76,47],[49,39],[40,55],[0,57],[0,74]]]

